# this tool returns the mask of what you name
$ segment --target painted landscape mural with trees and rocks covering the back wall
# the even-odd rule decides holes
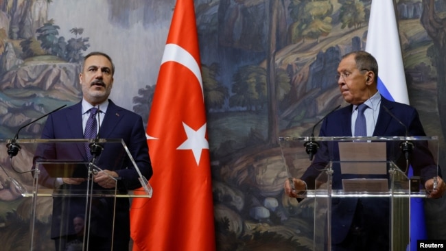
[[[115,61],[111,99],[147,121],[174,2],[0,1],[0,139],[12,139],[25,123],[79,101],[79,62],[90,51],[105,51]],[[344,53],[365,48],[371,1],[195,3],[218,250],[311,250],[314,204],[283,195],[286,170],[278,137],[309,136],[329,110],[345,105],[333,75]],[[426,133],[438,135],[443,152],[446,44],[444,30],[436,27],[443,27],[438,24],[446,3],[400,0],[397,7],[410,104]],[[38,137],[44,121],[23,128],[20,139]],[[31,175],[11,169],[5,144],[0,156],[0,165],[31,189]],[[444,167],[445,156],[439,156]],[[299,176],[308,156],[294,158],[290,171]],[[15,166],[27,171],[31,163]],[[0,171],[0,239],[6,250],[29,248],[23,241],[29,208]],[[440,227],[444,208],[444,198],[425,204],[432,239],[446,239]],[[39,223],[48,219],[40,215]]]

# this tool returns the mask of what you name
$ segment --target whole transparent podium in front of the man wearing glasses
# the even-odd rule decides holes
[[[340,222],[357,209],[342,208],[360,202],[364,211],[378,210],[372,220],[385,225],[389,250],[416,250],[418,226],[411,226],[411,219],[424,217],[415,210],[430,192],[424,181],[438,176],[436,136],[285,136],[279,143],[289,178],[300,178],[313,164],[314,182],[307,180],[306,193],[298,195],[299,201],[314,202],[313,250],[331,250],[331,243],[344,237],[342,228],[349,226]],[[376,208],[365,206],[374,202]]]

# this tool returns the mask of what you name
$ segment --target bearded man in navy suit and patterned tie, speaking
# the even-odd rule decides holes
[[[108,99],[113,86],[115,66],[102,52],[92,52],[84,57],[79,74],[83,98],[78,104],[49,115],[42,132],[42,139],[123,139],[141,174],[152,176],[148,144],[141,116],[121,108]],[[95,124],[94,126],[92,126]],[[94,128],[89,134],[88,128]],[[100,130],[99,130],[100,129]],[[85,135],[84,135],[85,134]],[[141,187],[139,174],[121,144],[104,143],[100,154],[92,153],[83,142],[57,147],[38,147],[35,160],[92,161],[100,169],[93,172],[94,190]],[[93,156],[92,156],[93,154]],[[97,155],[97,156],[96,156]],[[51,178],[45,171],[39,183],[58,191],[86,191],[87,180],[78,178]],[[130,241],[130,202],[127,198],[95,197],[91,201],[90,220],[86,221],[90,235],[88,250],[128,250]],[[73,217],[86,211],[86,198],[54,196],[51,239],[56,250],[65,250],[67,243],[77,238]],[[87,219],[87,218],[86,218]],[[113,222],[115,227],[113,230]],[[84,241],[85,242],[85,241]],[[112,244],[113,243],[113,244]]]

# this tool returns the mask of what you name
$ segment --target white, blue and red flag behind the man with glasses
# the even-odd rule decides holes
[[[378,62],[379,93],[387,99],[409,104],[395,10],[394,1],[372,1],[366,51],[375,56]],[[412,169],[408,175],[412,176]],[[417,239],[427,239],[424,206],[423,200],[412,198],[408,250],[416,250]]]

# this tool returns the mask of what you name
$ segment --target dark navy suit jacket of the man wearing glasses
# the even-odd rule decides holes
[[[383,106],[401,121],[407,128],[401,125],[399,121],[393,118]],[[322,122],[319,136],[352,136],[351,134],[351,113],[353,105],[341,108],[332,112]],[[419,119],[418,112],[415,108],[406,104],[389,101],[382,97],[379,115],[375,125],[373,136],[425,136],[423,126]],[[339,160],[338,147],[330,145],[333,143],[321,143],[312,165],[308,167],[302,180],[307,182],[308,189],[315,188],[314,180],[320,174],[320,170],[324,169],[329,160]],[[388,160],[393,160],[402,170],[406,169],[406,158],[404,158],[399,143],[387,143]],[[425,143],[416,143],[413,152],[409,158],[410,164],[414,168],[414,175],[421,176],[421,184],[437,175],[436,163],[427,149]],[[340,167],[333,165],[333,189],[342,188],[342,176]],[[365,211],[369,216],[376,219],[374,224],[382,224],[383,230],[388,231],[388,214],[389,201],[386,198],[374,198],[362,200]],[[332,200],[332,243],[342,242],[351,226],[353,214],[357,205],[355,198],[333,198]]]

